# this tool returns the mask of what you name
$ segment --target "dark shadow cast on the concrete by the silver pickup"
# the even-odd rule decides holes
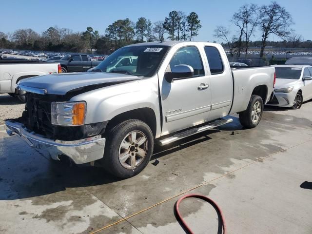
[[[222,131],[241,130],[237,118],[229,126],[183,138],[168,146],[156,146],[151,160],[183,150],[212,139],[209,135]],[[238,121],[239,123],[239,121]],[[20,149],[16,144],[20,144]],[[66,188],[90,187],[105,184],[123,184],[123,179],[111,176],[100,167],[89,164],[74,165],[68,161],[54,161],[40,156],[35,150],[21,151],[26,143],[6,137],[0,142],[0,200],[15,200],[54,194]],[[139,176],[130,178],[138,180]],[[105,189],[105,187],[103,187]]]

